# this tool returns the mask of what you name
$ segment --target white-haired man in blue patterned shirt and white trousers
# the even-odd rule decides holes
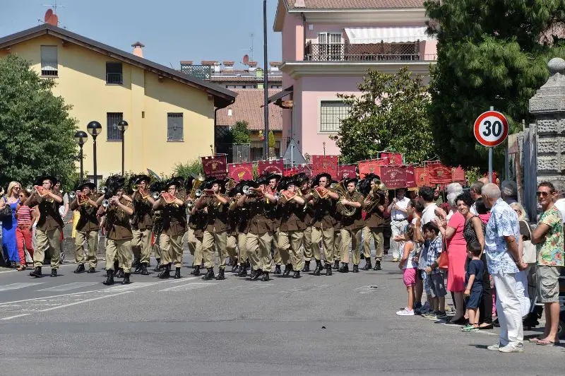
[[[528,267],[518,252],[520,227],[518,216],[501,199],[496,184],[482,187],[484,204],[490,208],[487,233],[484,236],[484,252],[487,255],[489,273],[496,288],[496,313],[499,318],[499,343],[489,346],[489,350],[501,353],[520,353],[523,351],[524,331],[520,300],[516,291],[516,274]]]

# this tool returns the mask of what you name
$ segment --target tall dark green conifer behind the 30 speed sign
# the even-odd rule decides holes
[[[437,38],[431,69],[430,122],[441,160],[486,165],[472,124],[494,106],[511,131],[533,120],[528,100],[547,80],[547,61],[565,49],[562,0],[429,0],[430,32]],[[498,150],[501,157],[502,148]]]

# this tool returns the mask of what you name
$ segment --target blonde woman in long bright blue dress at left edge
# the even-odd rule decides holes
[[[0,221],[2,221],[2,251],[8,268],[18,267],[20,256],[18,254],[18,242],[16,240],[16,206],[20,203],[19,193],[22,186],[18,182],[10,182],[6,196],[0,199]],[[10,213],[8,209],[10,208]],[[4,215],[2,215],[4,213]]]

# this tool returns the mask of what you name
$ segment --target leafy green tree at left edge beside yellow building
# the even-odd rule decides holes
[[[0,184],[21,184],[51,174],[66,189],[76,177],[76,119],[70,105],[53,95],[52,79],[40,78],[28,61],[13,54],[0,59]]]

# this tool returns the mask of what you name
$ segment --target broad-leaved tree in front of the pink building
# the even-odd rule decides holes
[[[407,68],[396,74],[367,71],[358,85],[362,95],[339,94],[350,107],[338,136],[343,162],[376,158],[379,151],[403,153],[408,163],[435,155],[427,117],[429,94],[422,77]]]

